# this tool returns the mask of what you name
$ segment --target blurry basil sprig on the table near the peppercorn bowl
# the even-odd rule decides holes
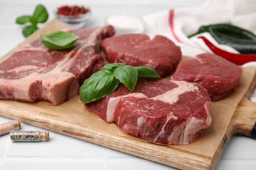
[[[39,4],[35,7],[33,15],[22,15],[16,18],[16,24],[28,24],[22,29],[22,34],[24,35],[24,37],[28,37],[38,29],[38,23],[47,22],[48,16],[49,15],[45,7]]]

